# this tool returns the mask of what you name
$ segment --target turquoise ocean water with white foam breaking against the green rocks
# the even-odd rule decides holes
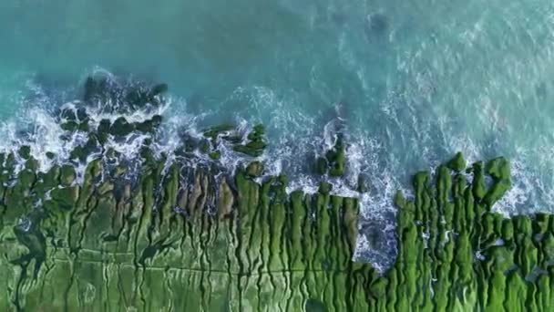
[[[456,151],[511,159],[498,211],[554,212],[553,52],[545,0],[4,0],[0,147],[62,155],[52,111],[90,74],[168,83],[167,151],[179,127],[263,122],[270,172],[307,192],[307,160],[344,127],[334,189],[361,198],[356,257],[385,267],[395,190]]]

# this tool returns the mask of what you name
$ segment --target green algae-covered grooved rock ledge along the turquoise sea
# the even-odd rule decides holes
[[[157,152],[150,136],[159,114],[95,119],[87,110],[96,102],[127,109],[118,108],[121,101],[155,109],[166,88],[122,90],[87,79],[83,100],[59,112],[68,137],[87,138],[65,161],[42,170],[27,146],[0,154],[0,310],[551,306],[551,215],[505,218],[491,211],[511,186],[508,160],[467,166],[458,153],[435,177],[416,173],[414,198],[398,192],[394,199],[395,265],[379,274],[352,261],[356,198],[334,195],[326,182],[313,194],[287,192],[286,176],[263,174],[256,161],[268,144],[262,125],[248,133],[210,128],[169,155]],[[131,136],[143,139],[137,157],[126,158],[114,144]],[[314,174],[342,176],[344,144],[339,136],[314,160]],[[228,152],[251,161],[226,171],[220,160]]]

